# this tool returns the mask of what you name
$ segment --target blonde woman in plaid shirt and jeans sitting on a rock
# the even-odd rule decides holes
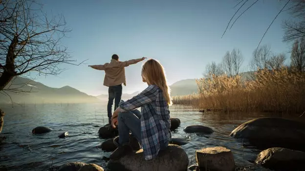
[[[111,153],[110,159],[116,160],[133,152],[130,131],[142,145],[145,160],[150,160],[160,150],[165,150],[172,138],[169,111],[172,100],[163,66],[158,61],[149,59],[143,64],[141,75],[148,87],[140,94],[121,102],[112,115],[111,124],[115,128],[118,123],[119,136],[113,140],[118,148]],[[130,112],[139,107],[140,118]]]

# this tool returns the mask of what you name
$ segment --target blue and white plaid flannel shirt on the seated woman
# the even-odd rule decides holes
[[[119,107],[125,111],[141,107],[141,141],[145,160],[154,158],[160,151],[160,143],[172,138],[169,106],[162,90],[149,85],[140,94],[121,102]]]

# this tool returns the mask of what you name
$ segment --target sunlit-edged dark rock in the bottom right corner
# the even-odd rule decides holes
[[[305,168],[305,152],[275,147],[260,152],[255,162],[271,170],[297,171]]]

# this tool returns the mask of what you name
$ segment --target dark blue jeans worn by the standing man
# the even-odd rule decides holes
[[[112,116],[112,105],[113,105],[113,100],[114,101],[114,110],[118,107],[121,97],[122,97],[122,84],[116,85],[116,86],[109,86],[108,88],[108,105],[107,105],[107,113],[108,113],[108,121],[111,123],[111,116]]]

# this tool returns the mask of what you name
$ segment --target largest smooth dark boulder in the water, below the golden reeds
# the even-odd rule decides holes
[[[277,117],[257,118],[239,125],[230,136],[247,139],[264,149],[284,147],[301,150],[305,143],[305,124]]]

